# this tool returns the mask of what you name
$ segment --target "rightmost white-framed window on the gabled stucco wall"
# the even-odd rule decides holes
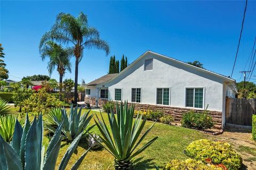
[[[204,88],[186,88],[186,107],[203,108]]]

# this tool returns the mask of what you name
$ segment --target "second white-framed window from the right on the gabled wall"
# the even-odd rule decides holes
[[[170,105],[170,88],[157,88],[156,104]]]

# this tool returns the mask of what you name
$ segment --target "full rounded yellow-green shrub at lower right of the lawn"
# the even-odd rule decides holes
[[[207,139],[201,139],[191,142],[186,148],[185,153],[196,160],[204,163],[223,164],[229,170],[240,169],[242,158],[226,142],[214,142]]]

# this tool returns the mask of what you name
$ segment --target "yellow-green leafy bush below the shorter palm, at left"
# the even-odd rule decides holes
[[[48,94],[45,89],[40,89],[38,92],[35,92],[28,99],[23,101],[21,105],[23,106],[23,113],[46,113],[53,107],[61,107],[62,103],[59,99]]]

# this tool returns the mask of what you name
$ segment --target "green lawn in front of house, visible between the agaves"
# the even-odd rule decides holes
[[[18,108],[12,108],[13,113],[17,112]],[[92,114],[100,115],[99,112],[91,112]],[[103,113],[103,118],[107,120],[107,114]],[[107,123],[108,121],[106,121]],[[94,121],[92,121],[94,123]],[[145,130],[153,122],[148,121],[145,125]],[[99,134],[97,127],[94,127],[93,131]],[[139,156],[133,159],[135,169],[155,169],[154,164],[159,167],[163,167],[171,159],[186,159],[187,156],[183,154],[183,150],[189,145],[191,141],[211,138],[209,135],[201,133],[196,130],[181,128],[177,126],[166,125],[162,123],[156,123],[150,133],[147,135],[145,142],[158,136],[159,138],[143,151]],[[45,134],[43,145],[47,147],[49,138]],[[62,141],[62,146],[59,153],[59,159],[57,164],[61,162],[61,158],[65,154],[69,143]],[[67,169],[71,168],[76,160],[83,154],[88,148],[85,138],[82,138],[79,142],[75,154],[70,159],[70,164]],[[113,169],[114,157],[110,155],[105,149],[91,150],[83,160],[81,169]]]

